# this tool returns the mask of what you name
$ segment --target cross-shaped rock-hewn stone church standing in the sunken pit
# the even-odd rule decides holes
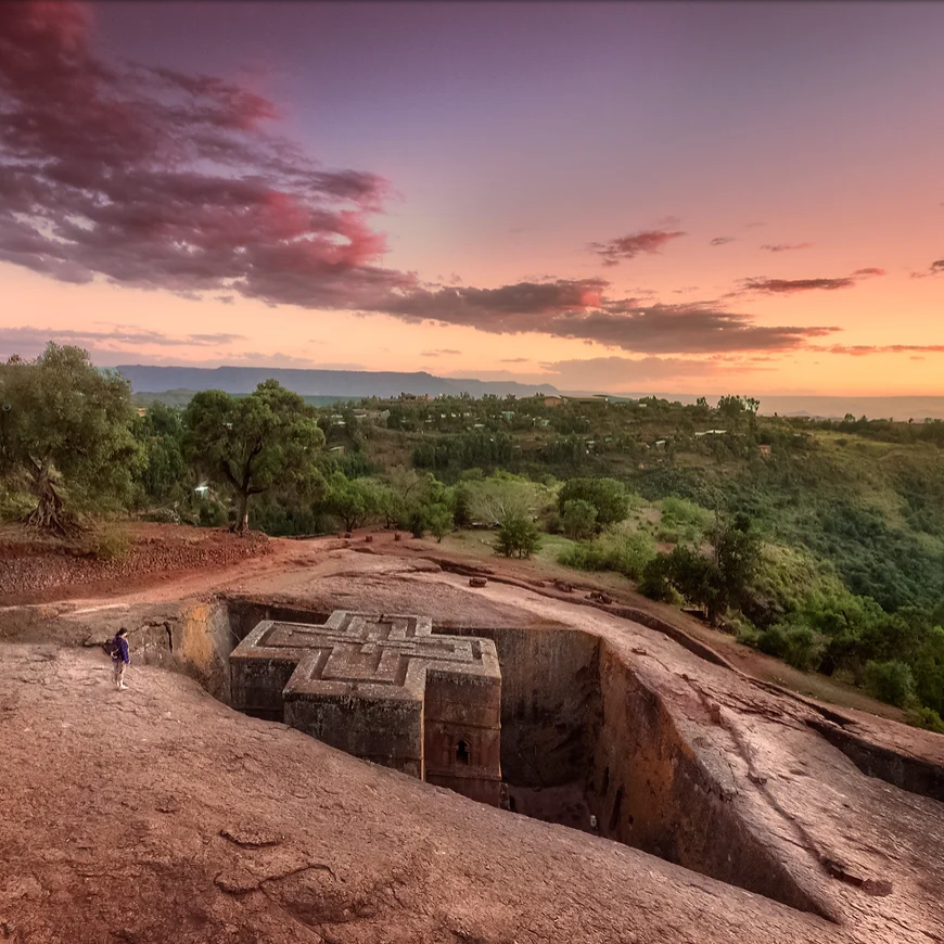
[[[501,672],[488,639],[426,616],[265,621],[230,655],[233,707],[498,805]]]

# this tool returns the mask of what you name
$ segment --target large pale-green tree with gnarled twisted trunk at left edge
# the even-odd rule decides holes
[[[26,522],[62,536],[78,527],[66,508],[120,503],[143,464],[131,433],[131,388],[88,352],[50,343],[35,360],[0,365],[0,471],[24,476],[36,498]]]

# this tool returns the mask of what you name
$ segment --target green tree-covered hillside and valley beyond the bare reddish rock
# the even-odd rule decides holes
[[[50,345],[0,365],[0,512],[59,533],[119,510],[272,535],[477,527],[515,557],[544,537],[566,566],[621,574],[940,726],[944,422],[757,407],[738,396],[319,407],[268,381],[139,411],[120,377]]]

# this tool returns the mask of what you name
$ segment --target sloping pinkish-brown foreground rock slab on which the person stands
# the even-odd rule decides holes
[[[366,765],[180,675],[109,674],[2,647],[4,944],[906,940]]]

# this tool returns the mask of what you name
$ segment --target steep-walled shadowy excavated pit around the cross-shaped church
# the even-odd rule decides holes
[[[322,624],[328,615],[245,598],[201,603],[152,628],[149,661],[170,661],[229,704],[229,654],[259,621]],[[662,699],[604,640],[576,629],[443,632],[492,639],[498,650],[501,770],[514,813],[831,917],[740,818]]]

